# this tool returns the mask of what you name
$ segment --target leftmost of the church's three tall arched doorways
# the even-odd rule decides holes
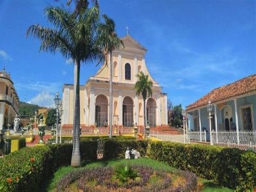
[[[108,98],[98,95],[95,102],[95,122],[97,127],[108,126]]]

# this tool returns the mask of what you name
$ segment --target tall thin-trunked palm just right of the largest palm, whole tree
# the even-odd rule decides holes
[[[105,23],[99,24],[100,42],[103,42],[103,49],[105,54],[109,54],[109,138],[112,137],[112,121],[113,121],[113,61],[112,53],[113,50],[119,49],[121,46],[124,47],[124,43],[115,31],[115,22],[110,19],[107,15],[102,15]],[[106,62],[108,59],[106,57]]]

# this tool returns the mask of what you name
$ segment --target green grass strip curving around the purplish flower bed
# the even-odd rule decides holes
[[[116,164],[138,164],[138,165],[147,165],[151,166],[152,168],[156,170],[165,170],[170,172],[177,172],[178,170],[176,168],[173,168],[172,166],[169,166],[166,163],[161,163],[159,161],[155,161],[153,159],[148,158],[140,158],[140,159],[115,159],[110,161],[96,161],[93,163],[84,164],[81,168],[76,169],[82,169],[82,168],[95,168],[97,166],[116,166]],[[42,188],[42,191],[55,191],[55,186],[58,183],[58,181],[61,179],[61,177],[68,172],[74,170],[71,166],[65,166],[58,169],[54,175],[52,175],[52,178],[49,179]],[[202,191],[232,191],[232,189],[224,188],[223,186],[218,186],[211,182],[211,180],[206,180],[198,177],[198,185],[202,189]]]

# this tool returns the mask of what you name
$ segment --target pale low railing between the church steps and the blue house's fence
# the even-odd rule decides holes
[[[183,134],[163,134],[162,131],[150,131],[150,136],[163,141],[184,143]]]

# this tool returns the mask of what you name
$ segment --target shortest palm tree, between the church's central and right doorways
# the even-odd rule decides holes
[[[143,74],[140,72],[137,74],[138,81],[134,85],[134,89],[136,91],[136,95],[140,96],[140,93],[143,98],[143,111],[144,111],[144,134],[145,134],[145,126],[147,125],[146,122],[146,99],[147,97],[152,97],[152,86],[153,82],[148,80],[148,75]]]

